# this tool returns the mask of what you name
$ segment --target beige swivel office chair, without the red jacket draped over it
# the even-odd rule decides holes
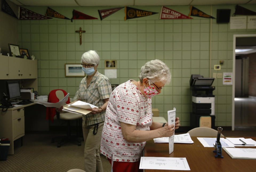
[[[53,90],[53,91],[55,91],[55,90]],[[57,90],[55,92],[56,97],[59,100],[62,100],[65,97],[63,91],[62,90]],[[58,113],[58,112],[56,112],[56,115],[54,116],[54,119],[66,120],[67,121],[67,136],[61,137],[62,139],[58,142],[58,145],[57,145],[58,148],[61,147],[61,145],[65,144],[66,142],[70,142],[70,141],[76,141],[78,143],[78,146],[81,146],[81,141],[78,139],[78,137],[71,136],[71,128],[70,128],[71,120],[79,120],[81,118],[82,118],[81,114],[76,114],[76,113],[71,113],[71,112],[67,112],[67,113]],[[59,137],[57,137],[57,138],[59,138]],[[51,142],[54,143],[54,140],[55,140],[55,138],[52,138]]]

